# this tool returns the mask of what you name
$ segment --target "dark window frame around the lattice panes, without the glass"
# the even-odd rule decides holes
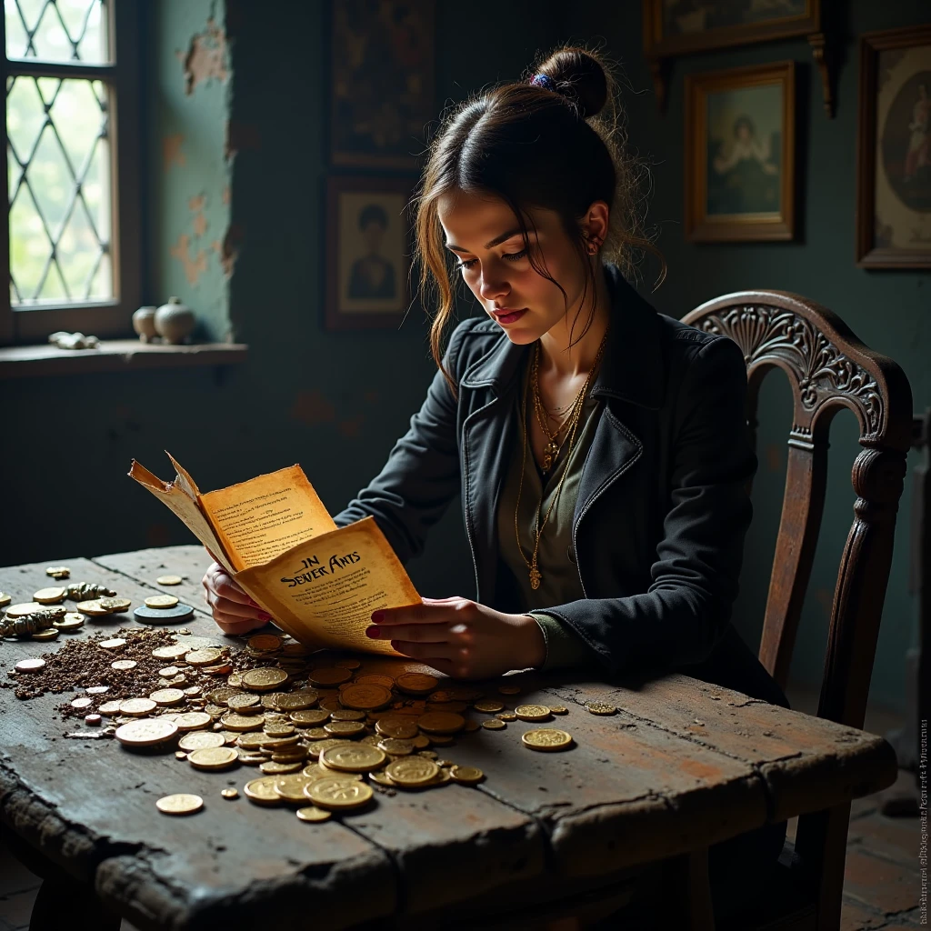
[[[7,58],[7,24],[0,18],[0,68],[4,100],[8,77],[75,77],[99,80],[107,88],[110,117],[110,256],[115,298],[81,304],[45,304],[14,308],[9,297],[9,194],[7,223],[0,223],[0,275],[6,280],[0,298],[0,345],[43,343],[57,330],[82,331],[100,337],[131,334],[132,312],[142,295],[142,184],[140,172],[140,11],[136,0],[103,0],[108,18],[110,64],[74,64],[42,59]],[[47,14],[45,14],[47,15]],[[0,175],[8,178],[7,112]]]

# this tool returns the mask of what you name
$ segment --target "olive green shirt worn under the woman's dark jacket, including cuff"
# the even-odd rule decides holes
[[[526,384],[526,382],[525,382]],[[520,417],[523,401],[520,392],[514,422],[519,438],[524,439],[524,428]],[[600,402],[589,395],[576,427],[572,454],[569,455],[569,439],[563,442],[560,454],[549,473],[544,476],[533,457],[530,440],[530,421],[527,420],[526,439],[523,447],[518,442],[511,466],[507,471],[498,505],[498,540],[501,558],[517,580],[521,605],[539,624],[546,641],[546,660],[541,668],[553,669],[576,666],[592,659],[591,651],[577,633],[559,618],[546,614],[547,607],[565,604],[585,598],[573,550],[573,516],[578,497],[582,468],[591,446],[599,417],[596,414]],[[533,398],[526,400],[526,417],[535,416]],[[520,484],[521,465],[523,485]],[[565,479],[560,488],[560,479]],[[542,504],[541,504],[542,499]],[[517,510],[517,531],[515,530]],[[528,563],[533,560],[533,543],[536,537],[537,520],[541,523],[549,517],[540,534],[537,549],[537,569],[542,578],[540,587],[533,588],[530,582]],[[518,546],[519,533],[519,546]]]

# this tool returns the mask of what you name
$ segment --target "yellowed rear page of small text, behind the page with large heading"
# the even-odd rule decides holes
[[[336,530],[301,466],[201,494],[200,504],[237,572]]]

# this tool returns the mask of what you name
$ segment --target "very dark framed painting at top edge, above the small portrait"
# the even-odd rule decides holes
[[[434,101],[434,0],[331,0],[334,165],[417,169]]]

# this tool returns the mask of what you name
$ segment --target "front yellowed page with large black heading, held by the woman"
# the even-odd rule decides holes
[[[371,613],[421,600],[372,518],[236,573],[236,581],[261,592],[270,613],[297,640],[392,656],[399,654],[389,641],[365,636]]]

